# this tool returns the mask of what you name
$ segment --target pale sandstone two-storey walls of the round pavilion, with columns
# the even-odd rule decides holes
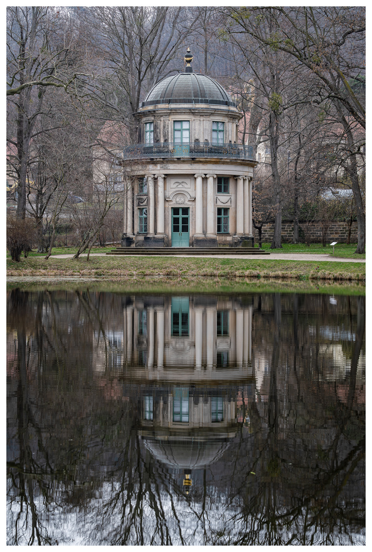
[[[193,81],[211,83],[212,96],[214,86],[222,89],[204,75],[193,75]],[[155,89],[148,97],[156,96]],[[134,184],[126,195],[123,247],[253,246],[257,162],[248,146],[237,144],[241,114],[228,100],[198,101],[210,103],[151,99],[134,114],[139,143],[124,151]]]

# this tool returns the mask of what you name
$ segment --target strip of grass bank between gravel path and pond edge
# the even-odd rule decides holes
[[[133,277],[294,278],[364,282],[365,263],[188,257],[43,257],[7,261],[8,277],[98,278],[120,282]]]

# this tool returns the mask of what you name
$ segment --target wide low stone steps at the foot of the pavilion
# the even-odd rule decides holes
[[[269,255],[254,247],[117,247],[107,255]]]

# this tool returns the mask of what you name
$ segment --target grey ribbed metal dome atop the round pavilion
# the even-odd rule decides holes
[[[141,107],[168,103],[232,105],[236,107],[236,103],[232,102],[221,84],[211,77],[193,72],[166,77],[155,84]]]

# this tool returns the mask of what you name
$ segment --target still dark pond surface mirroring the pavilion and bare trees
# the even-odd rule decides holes
[[[365,298],[8,292],[8,544],[365,544]]]

